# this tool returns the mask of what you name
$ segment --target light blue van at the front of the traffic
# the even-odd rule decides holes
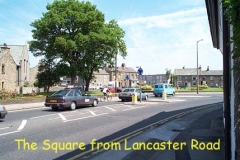
[[[162,96],[162,92],[165,91],[167,95],[175,95],[175,89],[172,84],[169,83],[157,83],[154,85],[153,94],[155,97]]]

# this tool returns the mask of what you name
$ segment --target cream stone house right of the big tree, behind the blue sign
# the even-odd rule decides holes
[[[115,70],[114,68],[106,67],[105,70],[109,73],[109,81],[115,81]],[[126,80],[128,75],[129,80]],[[132,67],[126,67],[125,63],[117,67],[117,86],[119,87],[134,87],[138,83],[138,74]]]

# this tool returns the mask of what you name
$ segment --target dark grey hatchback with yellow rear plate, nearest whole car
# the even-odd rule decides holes
[[[97,106],[98,98],[96,96],[82,93],[78,88],[63,89],[47,96],[45,101],[46,107],[51,107],[53,110],[59,108],[76,109],[78,106],[92,105]]]

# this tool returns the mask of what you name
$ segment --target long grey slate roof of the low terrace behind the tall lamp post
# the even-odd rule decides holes
[[[196,68],[185,68],[185,69],[175,69],[174,70],[175,75],[197,75],[197,69]],[[198,71],[198,74],[200,75],[223,75],[223,70],[200,70]]]

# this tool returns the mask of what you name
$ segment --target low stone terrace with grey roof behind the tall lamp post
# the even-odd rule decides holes
[[[178,76],[177,85],[185,85],[188,87],[197,86],[197,69],[196,68],[182,68],[175,69],[174,75]],[[222,87],[223,86],[223,71],[222,70],[210,70],[207,67],[206,70],[199,68],[199,85],[208,85],[210,87]]]

